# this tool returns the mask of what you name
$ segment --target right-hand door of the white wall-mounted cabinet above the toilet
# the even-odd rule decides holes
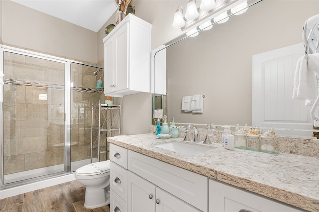
[[[128,82],[128,26],[127,23],[117,31],[115,36],[116,68],[113,76],[113,91],[123,90],[129,87]]]

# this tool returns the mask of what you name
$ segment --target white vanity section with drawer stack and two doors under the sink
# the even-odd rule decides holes
[[[131,150],[125,169],[117,163],[125,151],[110,144],[110,211],[208,211],[207,177]]]

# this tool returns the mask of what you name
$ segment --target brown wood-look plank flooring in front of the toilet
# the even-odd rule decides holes
[[[70,181],[0,200],[1,212],[110,212],[109,206],[84,207],[85,186]]]

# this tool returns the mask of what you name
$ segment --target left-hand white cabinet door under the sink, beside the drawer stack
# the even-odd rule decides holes
[[[128,171],[128,211],[155,212],[155,185]]]

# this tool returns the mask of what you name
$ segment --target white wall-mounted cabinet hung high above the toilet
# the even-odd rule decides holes
[[[151,28],[151,24],[128,14],[103,39],[106,96],[151,91]]]

